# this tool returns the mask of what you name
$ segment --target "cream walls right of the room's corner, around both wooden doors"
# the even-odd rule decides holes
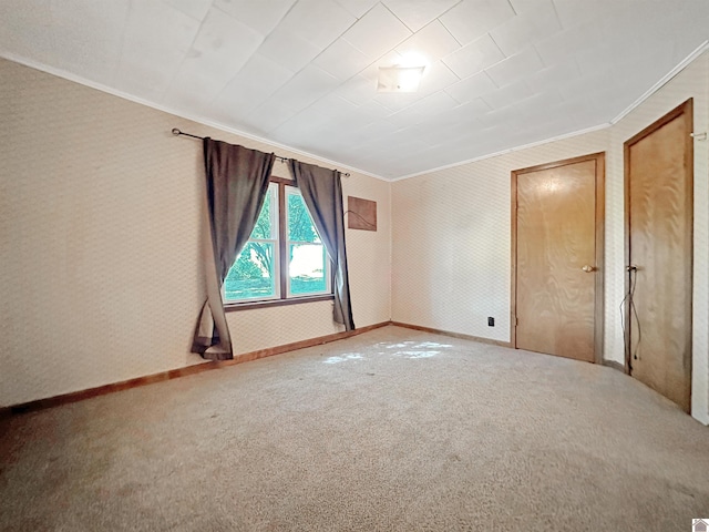
[[[516,168],[607,154],[604,356],[623,362],[623,143],[695,99],[695,131],[709,130],[709,54],[612,127],[395,182],[392,319],[510,341],[511,176]],[[692,416],[709,423],[709,142],[695,141]],[[486,317],[495,317],[490,328]]]

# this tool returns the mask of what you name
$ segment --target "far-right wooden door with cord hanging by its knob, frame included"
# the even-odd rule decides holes
[[[687,412],[691,395],[692,101],[625,143],[626,365]]]

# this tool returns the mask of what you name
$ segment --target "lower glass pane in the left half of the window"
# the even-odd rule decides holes
[[[224,293],[227,301],[275,297],[274,244],[248,242],[224,280]]]

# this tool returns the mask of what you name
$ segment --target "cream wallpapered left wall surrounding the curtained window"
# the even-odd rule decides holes
[[[0,406],[201,362],[202,149],[169,131],[291,154],[4,60],[0,116]],[[390,186],[343,180],[379,208],[377,233],[347,232],[358,327],[391,314]],[[228,320],[245,352],[340,330],[331,316],[325,301]]]

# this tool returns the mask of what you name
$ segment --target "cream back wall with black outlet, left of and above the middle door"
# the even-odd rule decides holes
[[[392,319],[510,341],[510,172],[607,143],[602,130],[393,183]]]

